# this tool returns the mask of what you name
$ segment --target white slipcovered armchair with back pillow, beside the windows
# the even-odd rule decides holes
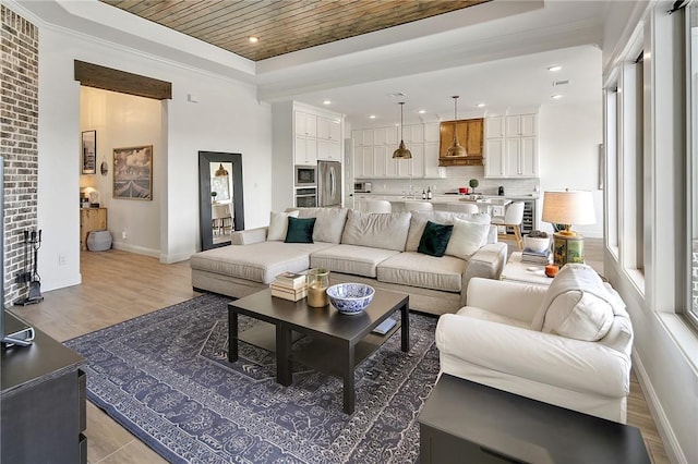
[[[467,301],[438,320],[443,373],[625,424],[633,328],[591,268],[550,288],[476,278]]]

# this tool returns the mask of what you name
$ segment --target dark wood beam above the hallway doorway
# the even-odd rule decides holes
[[[172,83],[79,60],[75,60],[74,64],[75,81],[80,81],[80,84],[86,87],[120,91],[156,100],[172,98]]]

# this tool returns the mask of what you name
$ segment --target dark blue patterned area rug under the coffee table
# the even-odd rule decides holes
[[[436,318],[410,314],[410,352],[398,331],[357,369],[347,415],[341,379],[297,365],[282,387],[273,354],[245,343],[228,363],[228,301],[198,296],[67,342],[88,361],[89,401],[170,462],[418,460]],[[241,330],[254,323],[240,317]]]

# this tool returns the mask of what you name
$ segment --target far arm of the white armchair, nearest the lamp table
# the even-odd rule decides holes
[[[467,292],[468,306],[530,325],[543,304],[547,286],[476,277],[470,279]]]

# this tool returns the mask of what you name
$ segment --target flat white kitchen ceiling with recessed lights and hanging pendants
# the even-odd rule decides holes
[[[549,66],[563,69],[551,72]],[[568,81],[568,84],[561,82]],[[404,93],[405,97],[395,97]],[[399,102],[405,101],[405,123],[450,120],[458,95],[458,118],[502,114],[517,108],[601,101],[601,50],[578,46],[526,57],[438,70],[294,95],[313,106],[325,106],[344,114],[354,127],[399,122]],[[553,99],[553,95],[562,96]],[[476,105],[484,103],[483,108]],[[425,112],[420,114],[419,110]],[[369,115],[375,119],[369,119]]]

